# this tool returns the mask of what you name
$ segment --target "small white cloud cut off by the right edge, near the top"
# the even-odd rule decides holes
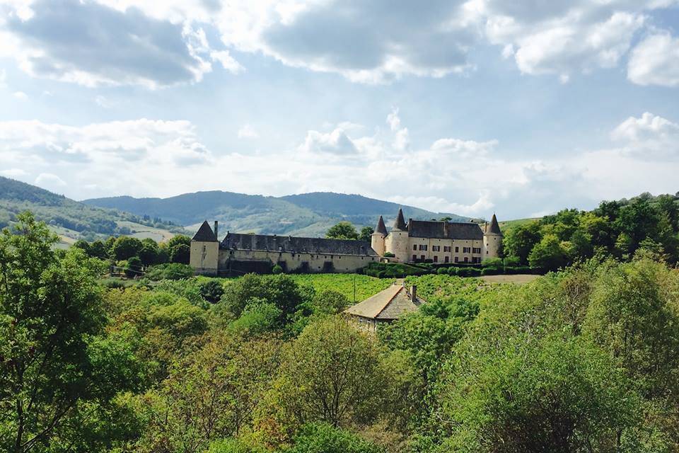
[[[632,50],[627,78],[639,85],[679,86],[679,38],[649,35]]]

